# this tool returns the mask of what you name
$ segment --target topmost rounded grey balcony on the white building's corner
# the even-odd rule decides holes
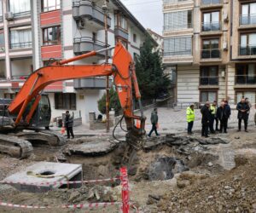
[[[73,1],[73,18],[79,20],[81,18],[93,20],[97,24],[104,26],[104,13],[102,9],[96,6],[90,0],[74,0]],[[111,26],[111,19],[108,17],[108,27]]]

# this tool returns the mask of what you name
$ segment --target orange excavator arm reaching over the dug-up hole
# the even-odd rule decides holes
[[[133,130],[134,119],[139,119],[141,120],[141,128],[138,130],[138,133],[139,135],[143,135],[145,124],[143,112],[141,117],[133,114],[132,87],[135,89],[136,98],[139,102],[141,98],[135,68],[130,53],[121,43],[118,43],[114,48],[113,64],[83,66],[67,65],[69,62],[80,60],[96,54],[96,51],[92,51],[88,54],[79,55],[72,59],[57,61],[51,66],[44,66],[38,69],[36,72],[33,72],[29,78],[27,78],[14,101],[12,101],[9,105],[10,114],[18,113],[15,120],[15,125],[17,126],[20,124],[20,120],[26,111],[26,107],[32,100],[34,100],[31,111],[25,118],[26,123],[29,124],[30,119],[32,118],[32,113],[36,109],[38,101],[41,98],[40,93],[50,83],[76,78],[112,75],[113,82],[119,95],[119,101],[124,111],[127,130]]]

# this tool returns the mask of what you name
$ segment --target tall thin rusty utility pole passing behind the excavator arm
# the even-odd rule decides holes
[[[104,11],[104,22],[105,22],[105,62],[108,64],[108,3],[107,0],[105,0],[102,10]],[[109,132],[109,77],[106,77],[106,117],[107,117],[107,123],[106,123],[106,130]]]

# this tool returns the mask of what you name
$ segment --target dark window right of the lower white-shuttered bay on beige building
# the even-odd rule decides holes
[[[201,50],[201,58],[209,59],[209,58],[219,58],[220,51],[218,47],[219,39],[206,39],[202,41],[202,50]]]

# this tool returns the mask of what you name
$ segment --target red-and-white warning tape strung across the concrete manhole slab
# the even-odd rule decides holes
[[[91,181],[45,181],[45,182],[24,182],[24,181],[0,181],[0,184],[20,184],[20,185],[29,185],[29,186],[55,186],[55,185],[72,185],[72,184],[88,184],[88,183],[101,183],[101,182],[114,182],[119,181],[120,177],[108,178],[103,180],[91,180]]]

